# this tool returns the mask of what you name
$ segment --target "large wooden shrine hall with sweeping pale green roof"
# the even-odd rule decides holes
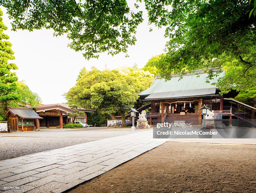
[[[219,68],[211,70],[215,73],[220,72]],[[150,124],[156,119],[162,123],[183,119],[198,125],[202,118],[199,108],[203,105],[214,111],[222,111],[223,96],[212,83],[225,76],[225,71],[217,77],[214,76],[209,80],[210,83],[206,83],[208,74],[205,71],[196,70],[195,73],[183,75],[182,79],[179,75],[172,74],[171,80],[168,81],[156,75],[150,88],[139,93],[142,100],[151,103],[151,113],[147,114]],[[231,95],[236,96],[237,93],[229,93],[228,98]],[[230,112],[226,114],[230,115]]]

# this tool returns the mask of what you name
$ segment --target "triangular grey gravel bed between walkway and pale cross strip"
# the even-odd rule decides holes
[[[1,137],[0,160],[11,159],[76,144],[87,143],[95,140],[97,139],[70,139],[56,137]]]

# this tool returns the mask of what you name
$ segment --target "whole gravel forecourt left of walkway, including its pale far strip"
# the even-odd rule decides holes
[[[140,132],[140,131],[136,131]],[[42,130],[0,134],[0,160],[131,134],[130,129]]]

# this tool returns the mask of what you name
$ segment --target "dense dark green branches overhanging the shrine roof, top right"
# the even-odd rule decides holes
[[[256,3],[256,1],[254,1]],[[171,9],[168,6],[172,6]],[[157,63],[162,77],[221,67],[225,56],[255,68],[255,8],[249,1],[146,1],[149,23],[165,26],[166,54]],[[250,17],[249,17],[250,16]],[[213,62],[212,62],[213,61]],[[246,68],[245,68],[246,69]],[[213,75],[209,71],[209,78]]]

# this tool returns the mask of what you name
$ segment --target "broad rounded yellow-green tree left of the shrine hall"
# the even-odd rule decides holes
[[[82,69],[79,75],[82,76],[67,97],[84,108],[111,114],[112,118],[115,118],[115,112],[119,112],[123,126],[126,112],[138,99],[137,93],[148,88],[153,81],[151,73],[134,68],[100,71],[93,67],[90,71]]]

